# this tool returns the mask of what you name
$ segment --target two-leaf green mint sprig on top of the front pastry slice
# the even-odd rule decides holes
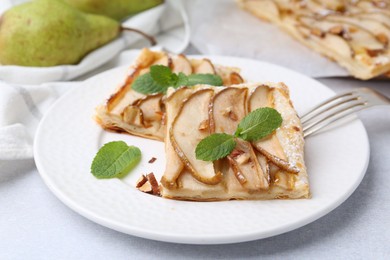
[[[241,138],[249,142],[260,140],[278,129],[282,121],[282,116],[275,109],[258,108],[240,121],[234,135],[219,133],[211,134],[202,139],[195,149],[196,159],[215,161],[224,158],[236,146],[234,138]]]

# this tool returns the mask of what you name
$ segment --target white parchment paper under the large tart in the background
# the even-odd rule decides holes
[[[277,26],[240,9],[234,0],[193,0],[185,4],[191,21],[191,44],[201,53],[258,59],[311,77],[349,75]]]

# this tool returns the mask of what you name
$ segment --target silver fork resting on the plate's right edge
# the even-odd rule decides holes
[[[336,95],[301,116],[303,135],[307,137],[353,113],[380,105],[390,105],[390,99],[369,88],[359,88]]]

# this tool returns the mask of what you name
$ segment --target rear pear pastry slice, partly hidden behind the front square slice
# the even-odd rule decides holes
[[[188,59],[186,56],[143,49],[130,67],[125,82],[107,101],[96,108],[95,120],[104,129],[162,141],[165,135],[165,96],[144,95],[131,88],[133,81],[149,72],[152,65],[164,65],[174,73],[217,74],[224,85],[243,82],[239,69],[219,66],[208,59]]]

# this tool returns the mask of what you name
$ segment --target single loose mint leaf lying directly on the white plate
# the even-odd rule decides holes
[[[98,179],[122,177],[141,160],[141,151],[123,141],[106,143],[92,161],[91,173]]]

